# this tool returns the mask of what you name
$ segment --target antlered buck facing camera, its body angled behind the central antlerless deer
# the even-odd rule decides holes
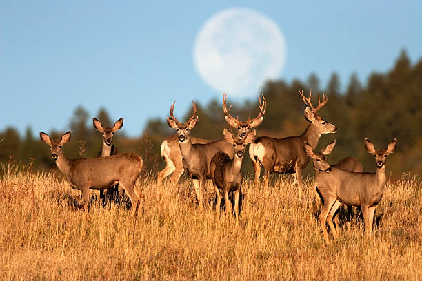
[[[174,101],[174,103],[176,103],[176,101]],[[183,157],[183,167],[188,173],[188,176],[192,178],[199,208],[202,209],[203,190],[205,188],[206,180],[210,178],[211,159],[217,152],[225,152],[225,154],[228,154],[228,156],[232,158],[232,145],[225,140],[217,140],[210,143],[192,143],[190,130],[197,125],[199,119],[198,116],[195,116],[195,114],[197,114],[197,106],[194,101],[192,101],[194,114],[187,122],[180,123],[173,115],[174,103],[170,107],[170,117],[167,117],[167,124],[177,132],[179,149]]]

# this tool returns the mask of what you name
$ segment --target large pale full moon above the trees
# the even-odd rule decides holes
[[[230,8],[214,14],[199,30],[194,64],[199,76],[219,94],[259,94],[285,65],[283,33],[265,14]]]

